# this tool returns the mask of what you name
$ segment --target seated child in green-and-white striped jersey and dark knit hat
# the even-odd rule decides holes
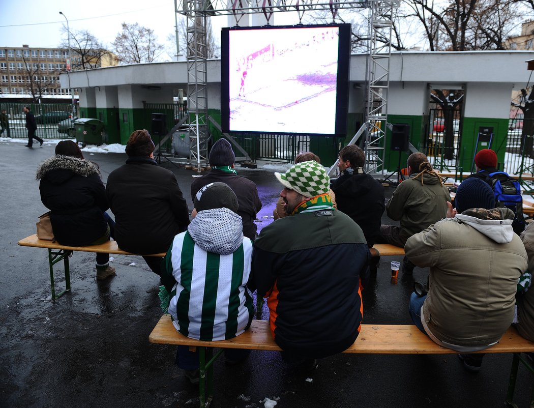
[[[178,234],[164,258],[162,309],[176,330],[191,339],[227,340],[252,323],[254,302],[247,288],[252,240],[243,237],[237,197],[224,183],[210,183],[195,195],[193,221]],[[163,299],[171,297],[170,303]],[[226,349],[238,362],[250,350]],[[178,346],[178,367],[199,382],[198,352]]]

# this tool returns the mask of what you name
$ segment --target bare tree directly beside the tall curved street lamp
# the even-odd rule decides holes
[[[70,67],[73,71],[102,66],[102,59],[109,54],[109,51],[89,30],[75,32],[71,30],[68,35],[70,36]],[[63,40],[61,47],[68,49],[68,41]]]

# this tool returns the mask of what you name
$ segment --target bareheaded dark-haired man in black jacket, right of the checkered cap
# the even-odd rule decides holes
[[[347,214],[364,232],[367,246],[372,247],[380,234],[384,212],[384,187],[363,169],[364,151],[355,145],[345,146],[339,152],[340,176],[331,188],[335,193],[337,209]]]

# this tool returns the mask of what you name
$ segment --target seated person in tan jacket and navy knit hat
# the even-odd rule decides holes
[[[493,208],[490,186],[478,178],[460,184],[456,215],[410,237],[404,247],[417,266],[430,266],[426,296],[413,293],[410,314],[439,345],[472,353],[496,344],[514,318],[517,279],[527,253],[512,230],[513,213]],[[481,354],[464,354],[464,366],[478,371]]]

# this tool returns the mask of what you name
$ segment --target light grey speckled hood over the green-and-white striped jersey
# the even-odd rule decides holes
[[[234,253],[243,242],[241,217],[228,208],[199,211],[187,232],[200,248],[220,255]]]

